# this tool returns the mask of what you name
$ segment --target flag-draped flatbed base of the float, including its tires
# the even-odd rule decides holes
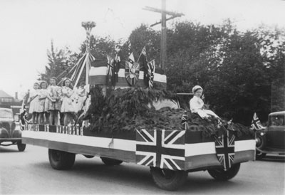
[[[53,169],[71,169],[76,154],[100,157],[105,164],[133,162],[150,167],[152,179],[161,189],[175,190],[188,172],[207,170],[214,179],[232,179],[242,162],[255,159],[255,137],[220,139],[202,137],[201,131],[134,130],[92,132],[87,127],[27,124],[22,142],[48,148]],[[219,152],[219,149],[222,149]]]

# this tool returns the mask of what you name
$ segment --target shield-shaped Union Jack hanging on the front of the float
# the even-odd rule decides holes
[[[227,131],[227,134],[223,134],[222,137],[215,137],[217,157],[224,170],[231,168],[234,162],[234,139],[235,136],[230,131]]]

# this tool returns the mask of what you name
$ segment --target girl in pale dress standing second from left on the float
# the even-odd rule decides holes
[[[38,124],[48,123],[48,113],[46,110],[46,99],[48,97],[48,83],[45,80],[41,81],[41,89],[38,90]]]

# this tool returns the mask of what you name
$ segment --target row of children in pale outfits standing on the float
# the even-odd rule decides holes
[[[73,90],[71,80],[64,78],[62,87],[56,85],[56,78],[34,83],[33,90],[28,97],[28,112],[32,115],[32,122],[37,124],[62,125],[73,124],[76,117],[84,109],[84,102],[88,97],[88,89],[84,82]]]

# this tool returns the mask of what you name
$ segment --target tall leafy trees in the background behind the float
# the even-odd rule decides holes
[[[129,41],[135,59],[146,46],[147,59],[155,59],[159,66],[160,31],[142,24],[133,30]],[[90,51],[95,58],[114,56],[115,43],[108,37],[91,36]],[[83,44],[81,53],[74,54],[55,51],[52,44],[41,79],[66,70],[76,61],[73,57],[83,55],[85,47]],[[128,44],[123,45],[121,54],[122,60],[128,58]],[[244,125],[250,125],[254,112],[262,122],[269,112],[285,110],[284,64],[284,29],[261,26],[241,32],[227,20],[221,26],[185,21],[167,30],[167,90],[191,93],[194,85],[201,85],[212,110]]]

